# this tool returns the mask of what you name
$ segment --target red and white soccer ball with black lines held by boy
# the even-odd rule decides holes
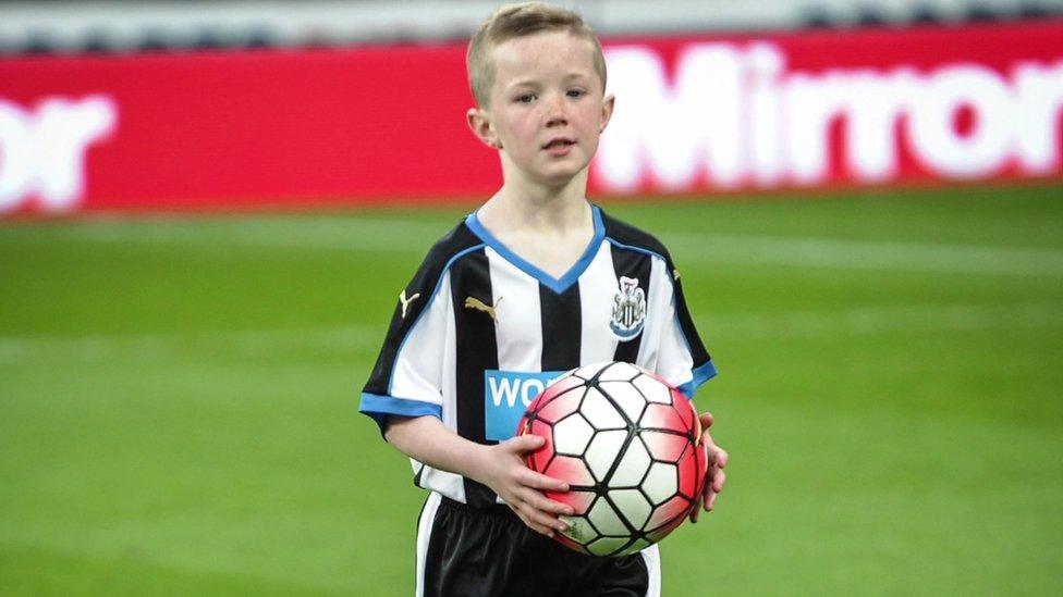
[[[577,551],[626,556],[661,540],[697,508],[706,448],[694,406],[639,366],[582,366],[528,406],[517,434],[543,437],[528,467],[569,484],[547,497],[572,506],[554,535]]]

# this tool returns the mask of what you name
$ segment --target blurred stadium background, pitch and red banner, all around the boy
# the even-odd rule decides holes
[[[721,370],[664,594],[1063,593],[1063,1],[566,4]],[[0,594],[412,593],[357,395],[494,7],[0,2]]]

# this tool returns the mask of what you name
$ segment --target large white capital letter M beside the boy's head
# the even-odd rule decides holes
[[[606,59],[609,91],[618,99],[595,166],[604,186],[632,190],[646,167],[673,189],[688,186],[702,169],[722,185],[741,182],[743,69],[733,46],[687,48],[673,87],[649,48],[610,48]]]

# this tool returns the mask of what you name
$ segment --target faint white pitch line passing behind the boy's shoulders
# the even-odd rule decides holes
[[[389,219],[91,222],[61,231],[101,242],[191,242],[423,253],[447,226]],[[683,263],[1063,277],[1063,251],[757,235],[660,234]]]

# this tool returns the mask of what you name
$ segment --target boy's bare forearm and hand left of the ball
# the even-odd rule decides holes
[[[541,437],[523,435],[488,446],[461,437],[435,416],[392,415],[388,423],[384,438],[406,456],[487,485],[538,533],[552,537],[554,530],[565,530],[558,514],[571,515],[572,508],[542,492],[567,492],[569,485],[528,469],[521,456],[541,447]]]

